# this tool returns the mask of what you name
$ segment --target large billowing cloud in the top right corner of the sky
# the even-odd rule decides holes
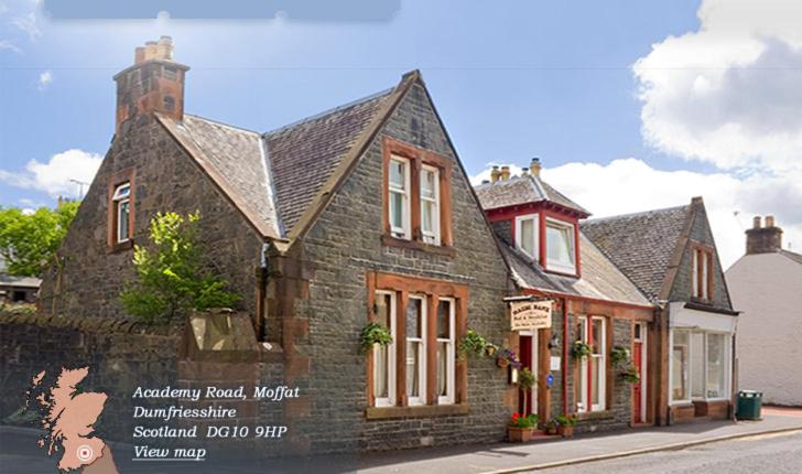
[[[638,60],[647,142],[723,170],[802,170],[802,2],[704,0]]]

